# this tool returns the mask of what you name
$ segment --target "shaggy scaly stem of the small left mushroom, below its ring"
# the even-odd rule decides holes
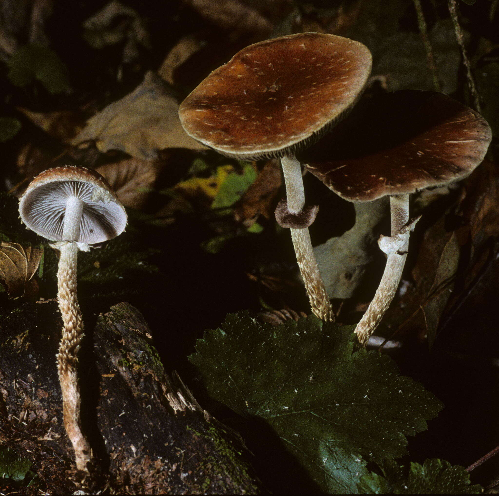
[[[78,245],[62,241],[57,244],[57,248],[60,250],[57,297],[64,324],[57,354],[57,371],[62,390],[64,427],[73,445],[77,470],[88,473],[87,464],[92,460],[92,450],[81,430],[81,396],[77,372],[77,353],[83,338],[83,322],[76,296]]]

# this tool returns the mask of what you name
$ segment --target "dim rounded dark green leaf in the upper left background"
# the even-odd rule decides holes
[[[36,80],[51,94],[63,93],[70,88],[67,67],[47,46],[21,46],[7,65],[7,77],[15,86],[26,86]]]

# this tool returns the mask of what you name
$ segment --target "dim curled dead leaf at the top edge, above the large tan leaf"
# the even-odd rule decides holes
[[[130,63],[139,56],[139,45],[151,48],[149,33],[137,11],[116,0],[89,17],[83,22],[83,27],[83,37],[93,48],[126,40],[123,63]]]

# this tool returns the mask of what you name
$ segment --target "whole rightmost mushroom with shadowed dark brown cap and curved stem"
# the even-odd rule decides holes
[[[348,121],[306,150],[307,169],[342,198],[390,196],[391,236],[381,283],[355,333],[362,345],[379,324],[399,285],[416,220],[409,195],[463,179],[485,157],[492,139],[486,120],[441,93],[404,90],[359,105]]]

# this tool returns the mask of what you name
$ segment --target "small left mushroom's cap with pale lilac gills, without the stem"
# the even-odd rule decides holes
[[[125,208],[109,183],[84,167],[54,167],[38,174],[19,199],[26,226],[51,241],[62,241],[67,199],[83,202],[79,243],[95,244],[121,234],[127,223]]]

